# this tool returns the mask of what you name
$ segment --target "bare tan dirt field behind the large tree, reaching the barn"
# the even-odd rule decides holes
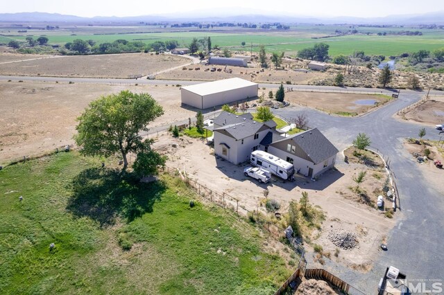
[[[89,102],[126,89],[150,93],[164,107],[152,127],[195,116],[180,107],[180,91],[172,85],[0,82],[0,164],[74,143],[76,118]]]

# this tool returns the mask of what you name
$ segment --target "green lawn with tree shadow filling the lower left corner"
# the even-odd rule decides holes
[[[273,294],[291,274],[253,226],[190,208],[182,181],[100,166],[69,152],[0,170],[1,294]]]

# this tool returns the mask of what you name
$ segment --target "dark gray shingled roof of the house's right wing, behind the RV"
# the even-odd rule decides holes
[[[339,150],[334,147],[334,145],[317,128],[296,133],[291,137],[275,141],[273,144],[282,141],[289,141],[289,143],[292,141],[293,144],[298,145],[315,164],[321,163],[339,152]]]

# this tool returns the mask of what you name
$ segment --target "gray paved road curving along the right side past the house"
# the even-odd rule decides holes
[[[440,279],[444,285],[444,256],[441,255],[441,250],[444,249],[441,243],[441,238],[444,237],[444,193],[429,186],[427,179],[418,170],[418,163],[402,147],[404,138],[417,138],[422,126],[392,117],[398,110],[420,100],[422,94],[402,91],[398,100],[355,118],[330,116],[302,107],[274,111],[286,118],[305,111],[309,117],[309,125],[318,127],[340,150],[350,145],[359,132],[365,132],[371,138],[372,147],[389,158],[398,184],[401,211],[395,213],[400,218],[388,235],[388,251],[380,251],[379,256],[374,259],[375,266],[368,274],[360,274],[327,262],[327,268],[366,294],[375,294],[379,278],[388,265],[398,267],[411,280]],[[440,138],[436,129],[425,128],[425,138]]]

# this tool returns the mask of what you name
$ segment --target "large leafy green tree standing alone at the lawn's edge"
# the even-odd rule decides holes
[[[148,123],[162,114],[162,107],[148,93],[121,91],[103,96],[77,118],[74,139],[85,155],[110,157],[119,152],[126,170],[128,153],[149,150],[139,132],[147,131]]]

